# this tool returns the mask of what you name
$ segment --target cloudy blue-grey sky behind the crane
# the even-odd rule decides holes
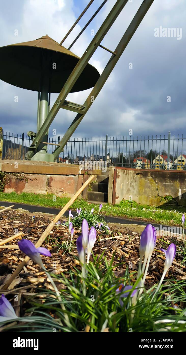
[[[103,0],[94,0],[63,45],[72,40]],[[130,2],[129,2],[130,1]],[[114,50],[142,0],[129,0],[103,42]],[[26,42],[48,34],[60,42],[89,0],[6,0],[1,3],[0,46]],[[116,0],[108,0],[71,50],[81,56]],[[74,137],[185,135],[186,121],[186,6],[185,0],[155,0]],[[155,28],[177,28],[176,37],[155,37]],[[15,36],[15,29],[18,35]],[[90,63],[101,73],[110,54],[98,48]],[[129,69],[129,63],[133,68]],[[3,68],[1,68],[3,70]],[[68,95],[82,103],[91,90]],[[14,96],[18,102],[14,102]],[[168,100],[167,97],[170,96]],[[51,94],[51,104],[56,94]],[[170,102],[168,102],[168,101]],[[75,113],[60,110],[52,129],[68,129]],[[0,126],[4,131],[36,130],[37,93],[0,80]],[[185,135],[186,136],[186,135]]]

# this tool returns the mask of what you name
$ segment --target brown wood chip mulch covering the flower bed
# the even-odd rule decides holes
[[[65,218],[60,221],[63,223],[64,220]],[[35,244],[49,223],[50,218],[46,218],[45,214],[37,213],[37,216],[34,218],[33,215],[25,212],[18,212],[18,210],[2,212],[0,214],[0,241],[18,233],[19,231],[23,231],[24,238],[31,240]],[[109,261],[115,252],[115,275],[117,277],[122,277],[128,266],[131,275],[133,273],[135,280],[135,272],[137,272],[139,264],[139,233],[130,230],[130,225],[128,226],[127,232],[126,230],[122,232],[121,228],[120,232],[116,229],[112,230],[111,228],[111,233],[111,235],[105,235],[99,231],[97,232],[98,238],[93,249],[94,254],[101,255],[101,253],[104,252],[104,256]],[[75,230],[73,241],[76,241],[79,235],[80,230]],[[3,285],[25,257],[17,246],[17,241],[21,238],[22,237],[19,237],[8,243],[8,245],[12,246],[12,249],[0,247],[0,294],[3,293],[1,291],[3,290]],[[71,253],[64,253],[63,244],[66,242],[67,238],[68,229],[62,224],[56,225],[50,232],[50,237],[48,237],[45,244],[42,245],[50,250],[52,256],[50,258],[42,256],[42,260],[47,271],[56,274],[65,273],[66,277],[69,277],[68,271],[70,269],[73,270],[74,267],[81,268],[81,266],[79,261],[75,258],[78,256],[75,247]],[[164,241],[175,242],[176,244],[175,237],[164,237]],[[162,242],[157,240],[156,248],[161,246]],[[60,250],[59,247],[61,247]],[[167,249],[165,244],[164,247]],[[161,279],[164,260],[164,253],[155,249],[151,258],[149,272],[146,277],[147,288],[150,288]],[[186,279],[186,266],[181,266],[181,261],[182,256],[179,255],[179,253],[176,253],[176,258],[174,259],[173,266],[169,269],[169,272],[166,275],[167,277],[174,278],[175,280]],[[58,283],[56,279],[54,279],[54,281],[59,289],[62,288],[61,283]],[[21,290],[21,292],[24,292],[24,290],[27,292],[27,289],[30,289],[29,291],[34,293],[35,286],[53,289],[40,266],[29,260],[19,276],[17,276],[9,286],[8,292],[14,293],[14,291],[16,292],[18,289]]]

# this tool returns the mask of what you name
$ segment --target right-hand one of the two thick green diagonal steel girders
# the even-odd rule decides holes
[[[105,66],[104,71],[100,75],[97,83],[95,84],[94,88],[92,89],[91,93],[89,94],[88,98],[86,99],[85,103],[83,104],[83,106],[85,106],[85,114],[93,103],[93,100],[91,100],[91,98],[94,97],[94,99],[95,99],[97,97],[97,95],[99,94],[101,88],[104,86],[107,78],[109,77],[110,73],[114,69],[118,59],[122,55],[124,49],[127,47],[127,44],[129,43],[130,39],[132,38],[132,36],[135,33],[136,29],[138,28],[139,24],[143,20],[146,12],[149,10],[153,1],[154,0],[144,0],[143,3],[141,4],[141,6],[139,7],[139,10],[136,12],[133,20],[129,24],[120,43],[117,45],[117,47],[114,51],[116,53],[116,55],[111,56],[107,65]],[[68,142],[68,140],[70,139],[70,137],[72,136],[74,131],[76,130],[77,126],[82,121],[85,114],[77,114],[76,115],[74,121],[71,123],[70,127],[68,128],[65,135],[63,136],[62,140],[59,142],[60,146],[58,146],[54,150],[54,152],[52,153],[54,155],[54,162],[57,159],[60,152],[63,151],[63,148],[65,147],[66,143]]]

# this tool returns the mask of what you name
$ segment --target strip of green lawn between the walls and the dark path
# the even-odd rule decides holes
[[[34,193],[22,192],[20,194],[16,192],[4,193],[0,192],[1,201],[25,203],[36,206],[45,206],[45,207],[54,207],[62,208],[70,200],[67,197],[56,197],[54,200],[54,195],[42,195]],[[88,203],[85,200],[77,199],[71,206],[71,209],[77,208],[91,209],[94,208],[95,212],[99,211],[99,205]],[[130,201],[121,201],[119,204],[112,206],[107,203],[104,204],[101,209],[101,214],[126,217],[132,219],[141,219],[145,221],[156,222],[160,224],[169,224],[169,225],[179,225],[181,226],[181,216],[182,213],[186,212],[185,207],[180,206],[148,206],[140,205],[136,202]]]

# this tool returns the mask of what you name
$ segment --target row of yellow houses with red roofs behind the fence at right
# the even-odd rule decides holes
[[[158,154],[157,157],[150,163],[150,160],[143,157],[137,157],[133,160],[133,168],[140,169],[141,167],[145,169],[167,169],[167,155]],[[169,159],[169,169],[186,169],[186,155],[182,154],[177,159],[174,160],[174,165],[172,159]]]

